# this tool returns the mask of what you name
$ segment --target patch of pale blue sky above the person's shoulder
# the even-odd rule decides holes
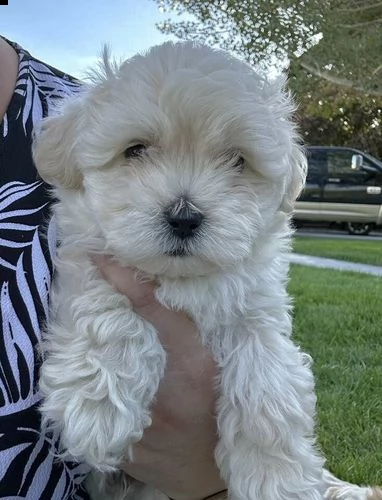
[[[0,34],[81,78],[105,43],[126,59],[172,39],[155,27],[168,17],[153,0],[8,0],[0,5]]]

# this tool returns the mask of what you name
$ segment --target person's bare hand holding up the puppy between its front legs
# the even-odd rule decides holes
[[[224,490],[214,460],[216,365],[195,325],[155,300],[154,283],[138,283],[132,269],[95,257],[103,277],[152,323],[167,352],[166,372],[152,407],[152,425],[123,470],[174,500],[200,500]]]

